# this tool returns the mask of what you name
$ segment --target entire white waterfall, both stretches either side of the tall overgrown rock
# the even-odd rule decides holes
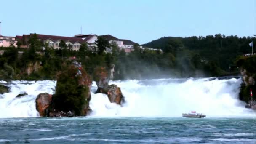
[[[3,81],[2,81],[3,83]],[[110,103],[107,95],[91,93],[92,117],[180,117],[197,111],[207,117],[255,117],[239,100],[241,79],[158,79],[111,81],[125,96],[122,107]],[[14,81],[11,92],[0,95],[0,118],[37,117],[35,99],[39,93],[54,93],[56,81]],[[93,83],[92,91],[96,89]],[[15,98],[21,92],[27,96]]]

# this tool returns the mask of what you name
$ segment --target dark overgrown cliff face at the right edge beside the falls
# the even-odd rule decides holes
[[[256,56],[240,57],[236,61],[237,66],[240,69],[240,73],[243,77],[243,84],[240,87],[240,100],[248,102],[256,99]]]

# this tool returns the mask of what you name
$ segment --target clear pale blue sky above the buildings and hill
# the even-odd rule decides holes
[[[253,36],[256,0],[1,0],[1,35]]]

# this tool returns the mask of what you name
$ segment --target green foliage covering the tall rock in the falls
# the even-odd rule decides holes
[[[61,72],[57,79],[56,93],[53,96],[53,104],[55,109],[68,112],[75,111],[75,115],[81,115],[84,105],[86,104],[85,95],[88,94],[88,88],[79,85],[79,76],[77,68],[69,67]]]

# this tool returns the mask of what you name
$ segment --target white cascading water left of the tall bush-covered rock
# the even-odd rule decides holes
[[[9,117],[38,117],[35,109],[35,99],[39,93],[53,94],[53,88],[56,81],[13,81],[10,86],[10,92],[4,93],[0,99],[0,118]],[[27,96],[16,98],[22,92]]]

